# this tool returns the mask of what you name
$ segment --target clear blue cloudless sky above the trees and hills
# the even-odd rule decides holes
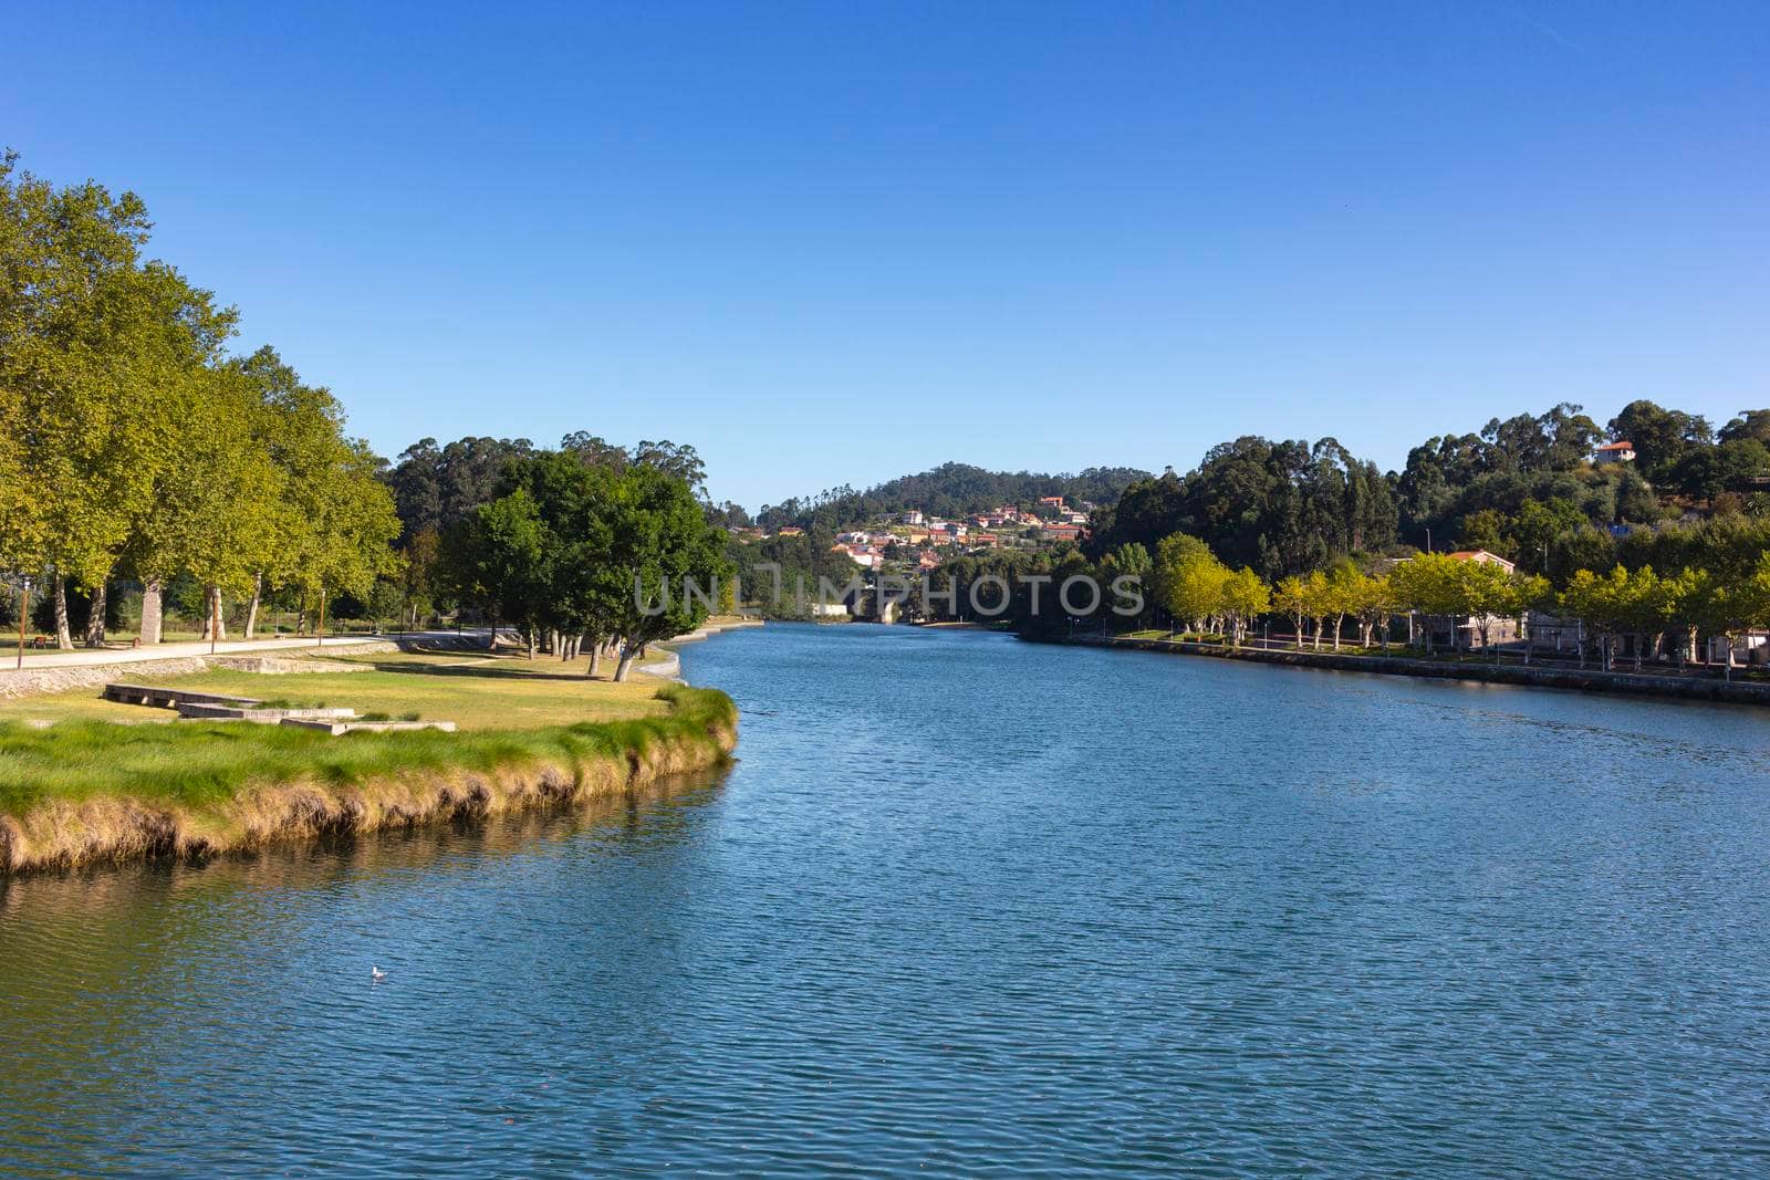
[[[669,437],[750,508],[945,460],[1398,465],[1770,405],[1770,5],[19,5],[0,142],[386,455]]]

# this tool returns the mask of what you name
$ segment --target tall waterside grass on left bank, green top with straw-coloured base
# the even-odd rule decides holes
[[[726,693],[669,685],[657,697],[667,713],[455,734],[0,722],[0,870],[195,856],[609,794],[731,750],[736,708]]]

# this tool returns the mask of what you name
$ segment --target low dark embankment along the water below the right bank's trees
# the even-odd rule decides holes
[[[1770,706],[1770,683],[1726,681],[1696,676],[1653,676],[1651,672],[1604,672],[1600,669],[1570,669],[1520,663],[1466,663],[1416,660],[1409,656],[1368,656],[1333,651],[1296,651],[1273,647],[1223,647],[1179,639],[1131,639],[1126,635],[1071,635],[1035,642],[1073,644],[1087,647],[1126,647],[1133,651],[1165,651],[1170,655],[1209,656],[1216,660],[1243,660],[1248,663],[1280,663],[1285,667],[1331,669],[1338,672],[1374,672],[1379,676],[1416,676],[1427,679],[1458,679],[1480,685],[1519,685],[1528,688],[1570,688],[1577,692],[1605,692],[1644,697],[1671,697],[1678,701],[1712,701],[1726,704]]]

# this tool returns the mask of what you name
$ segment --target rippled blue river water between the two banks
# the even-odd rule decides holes
[[[878,626],[685,672],[727,775],[0,885],[0,1173],[1770,1173],[1770,713]]]

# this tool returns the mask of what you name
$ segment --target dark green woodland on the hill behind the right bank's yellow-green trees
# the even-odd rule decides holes
[[[1595,465],[1605,435],[1628,439],[1635,462]],[[1428,439],[1389,474],[1335,439],[1243,437],[1212,448],[1186,476],[1129,485],[1094,515],[1089,552],[1154,548],[1189,533],[1225,561],[1280,579],[1404,543],[1460,545],[1565,582],[1579,568],[1609,568],[1612,533],[1628,525],[1692,508],[1770,515],[1770,483],[1759,481],[1770,481],[1770,410],[1745,410],[1717,432],[1701,416],[1639,400],[1600,428],[1563,403]]]

